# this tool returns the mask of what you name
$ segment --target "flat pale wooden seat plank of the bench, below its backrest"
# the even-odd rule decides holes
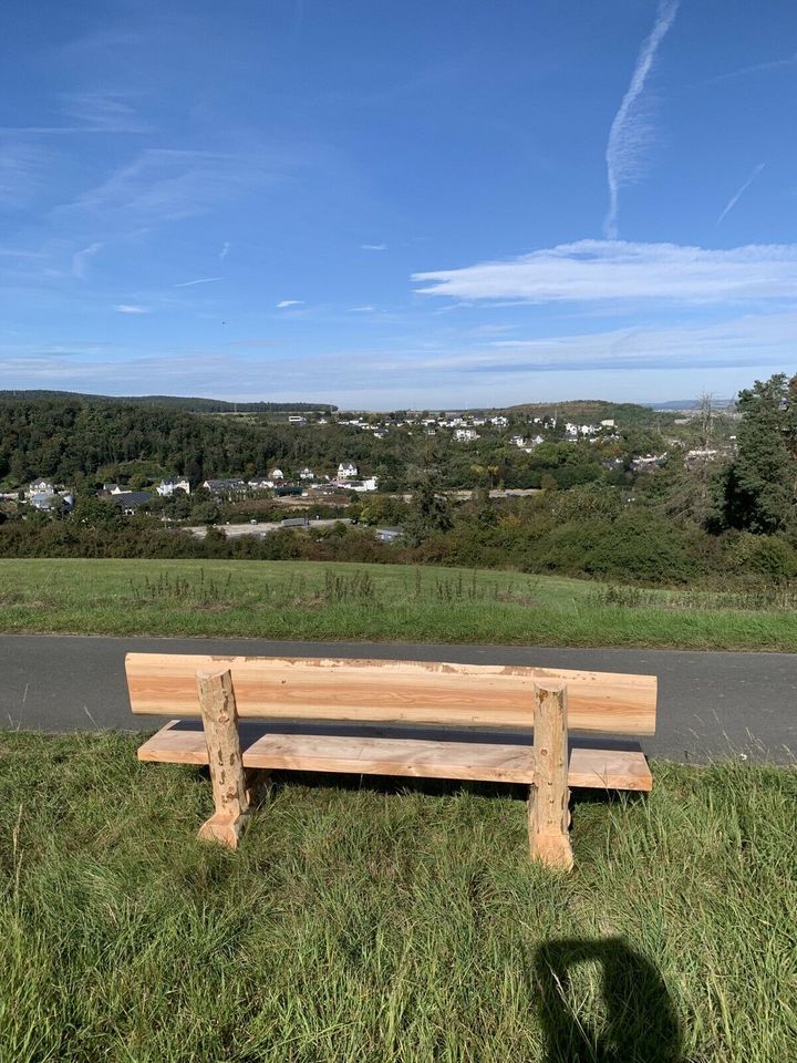
[[[179,723],[162,727],[141,746],[138,758],[207,764],[204,732],[178,730]],[[327,734],[263,734],[244,749],[245,767],[500,783],[534,782],[531,760],[530,745]],[[568,784],[646,793],[653,780],[643,753],[573,747]]]

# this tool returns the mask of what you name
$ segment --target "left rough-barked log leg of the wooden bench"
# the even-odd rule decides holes
[[[232,673],[197,672],[196,679],[216,805],[214,815],[199,828],[199,837],[235,849],[249,813],[249,797]]]

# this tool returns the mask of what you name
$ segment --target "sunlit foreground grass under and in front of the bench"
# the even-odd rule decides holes
[[[577,795],[562,876],[485,785],[284,775],[230,854],[135,746],[0,734],[9,1063],[794,1059],[794,770]]]

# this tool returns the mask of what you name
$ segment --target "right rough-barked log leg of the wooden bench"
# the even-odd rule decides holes
[[[535,782],[529,792],[531,857],[569,870],[573,865],[568,832],[567,687],[535,688]]]

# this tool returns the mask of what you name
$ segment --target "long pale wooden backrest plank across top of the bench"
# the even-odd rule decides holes
[[[197,672],[230,669],[244,718],[528,727],[537,682],[568,689],[571,731],[655,732],[656,679],[611,672],[332,658],[128,653],[131,708],[199,715]]]

